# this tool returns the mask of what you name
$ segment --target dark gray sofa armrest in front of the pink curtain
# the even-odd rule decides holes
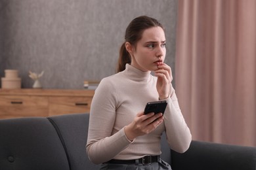
[[[171,150],[171,167],[173,170],[256,170],[256,147],[192,141],[184,154]]]

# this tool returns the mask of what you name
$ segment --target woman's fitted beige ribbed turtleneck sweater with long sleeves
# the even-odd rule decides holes
[[[130,124],[146,103],[158,101],[157,77],[127,64],[125,71],[103,78],[91,104],[87,155],[93,163],[111,159],[133,160],[146,155],[160,155],[163,131],[171,149],[185,152],[191,134],[181,114],[172,88],[167,99],[164,122],[152,133],[137,137],[133,142],[125,136],[124,127]]]

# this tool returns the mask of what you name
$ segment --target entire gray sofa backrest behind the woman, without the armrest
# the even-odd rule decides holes
[[[98,169],[85,151],[88,125],[89,114],[0,120],[0,169]],[[162,138],[161,158],[170,163],[171,150]]]

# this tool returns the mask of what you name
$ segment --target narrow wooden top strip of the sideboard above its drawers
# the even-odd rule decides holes
[[[95,90],[63,90],[63,89],[0,89],[0,95],[39,95],[39,96],[83,96],[93,97]]]

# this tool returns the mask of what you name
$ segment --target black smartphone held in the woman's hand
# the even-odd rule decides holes
[[[150,112],[154,112],[157,114],[161,112],[162,114],[165,112],[165,108],[167,106],[167,101],[152,101],[146,103],[146,107],[144,109],[144,114],[148,114]]]

